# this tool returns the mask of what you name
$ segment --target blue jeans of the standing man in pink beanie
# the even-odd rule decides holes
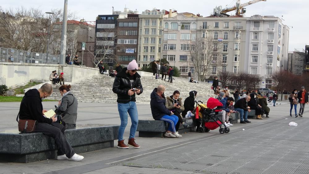
[[[124,129],[128,124],[128,113],[132,123],[129,138],[134,138],[138,124],[138,113],[135,102],[118,103],[118,112],[121,120],[121,124],[118,130],[118,141],[123,140]]]

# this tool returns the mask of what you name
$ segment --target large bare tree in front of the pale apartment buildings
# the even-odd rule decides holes
[[[199,81],[201,78],[206,79],[211,74],[212,67],[221,63],[221,49],[222,43],[211,36],[196,40],[195,45],[190,46],[188,53],[193,60],[194,71],[199,75]]]

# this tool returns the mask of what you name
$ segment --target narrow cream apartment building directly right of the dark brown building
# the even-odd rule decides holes
[[[163,19],[174,17],[177,11],[152,9],[139,15],[138,64],[146,67],[161,58]]]

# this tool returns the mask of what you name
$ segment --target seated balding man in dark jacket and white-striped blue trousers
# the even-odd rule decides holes
[[[158,88],[153,89],[150,94],[150,108],[152,117],[155,120],[163,120],[169,124],[165,137],[170,138],[180,138],[182,135],[179,135],[176,131],[176,124],[178,122],[178,116],[174,115],[172,111],[169,111],[165,107],[165,96],[164,96],[165,87],[159,85]]]

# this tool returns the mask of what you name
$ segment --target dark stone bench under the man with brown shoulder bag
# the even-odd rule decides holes
[[[75,153],[114,147],[119,125],[81,124],[65,130],[65,137]],[[19,133],[6,130],[0,133],[0,160],[30,163],[57,157],[55,142],[43,133]]]

